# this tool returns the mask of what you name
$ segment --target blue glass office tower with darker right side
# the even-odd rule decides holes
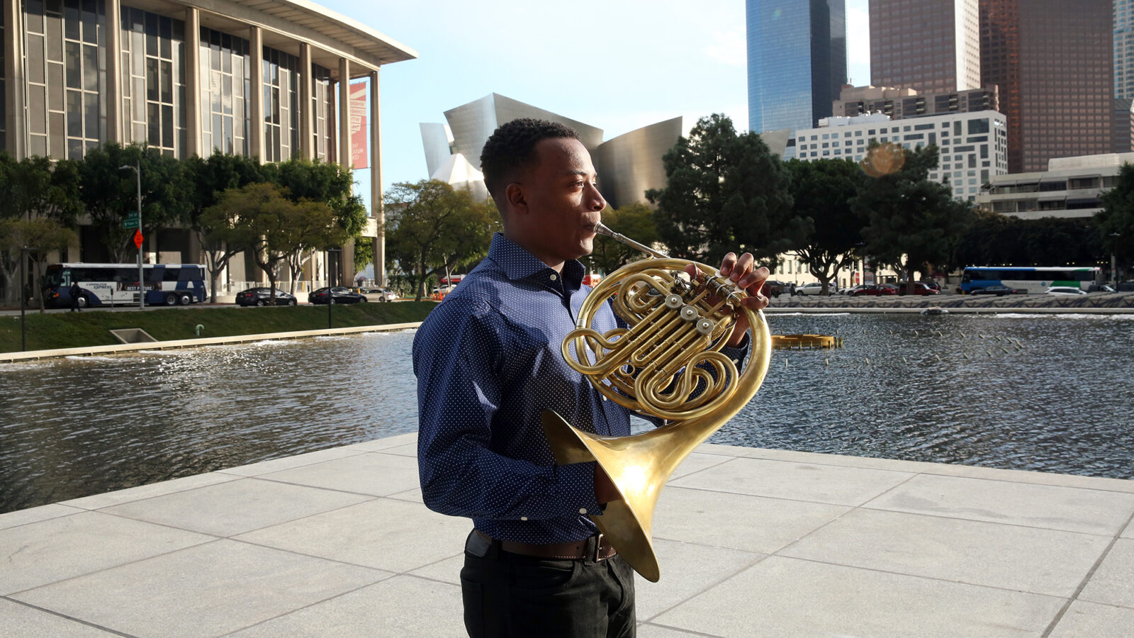
[[[812,128],[847,81],[844,0],[747,0],[748,131]]]

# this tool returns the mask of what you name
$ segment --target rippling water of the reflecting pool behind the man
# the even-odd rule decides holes
[[[1134,478],[1134,316],[770,314],[710,440]],[[0,363],[0,512],[414,431],[414,333]]]

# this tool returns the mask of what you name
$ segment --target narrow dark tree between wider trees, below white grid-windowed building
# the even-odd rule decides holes
[[[787,227],[799,233],[793,250],[822,283],[826,295],[839,270],[854,262],[862,242],[863,219],[850,202],[868,177],[852,160],[790,160],[784,166],[792,176],[795,202]]]

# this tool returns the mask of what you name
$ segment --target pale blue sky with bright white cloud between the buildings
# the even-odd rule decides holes
[[[677,116],[747,128],[744,0],[315,0],[417,51],[382,67],[382,185],[429,177],[421,123],[490,93],[603,129]],[[870,82],[868,0],[846,0],[848,75]],[[355,171],[370,196],[370,171]]]

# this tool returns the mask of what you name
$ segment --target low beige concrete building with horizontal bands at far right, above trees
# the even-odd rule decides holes
[[[1052,158],[1048,169],[993,177],[976,196],[985,210],[1018,217],[1093,217],[1102,210],[1102,193],[1115,187],[1134,153]]]

